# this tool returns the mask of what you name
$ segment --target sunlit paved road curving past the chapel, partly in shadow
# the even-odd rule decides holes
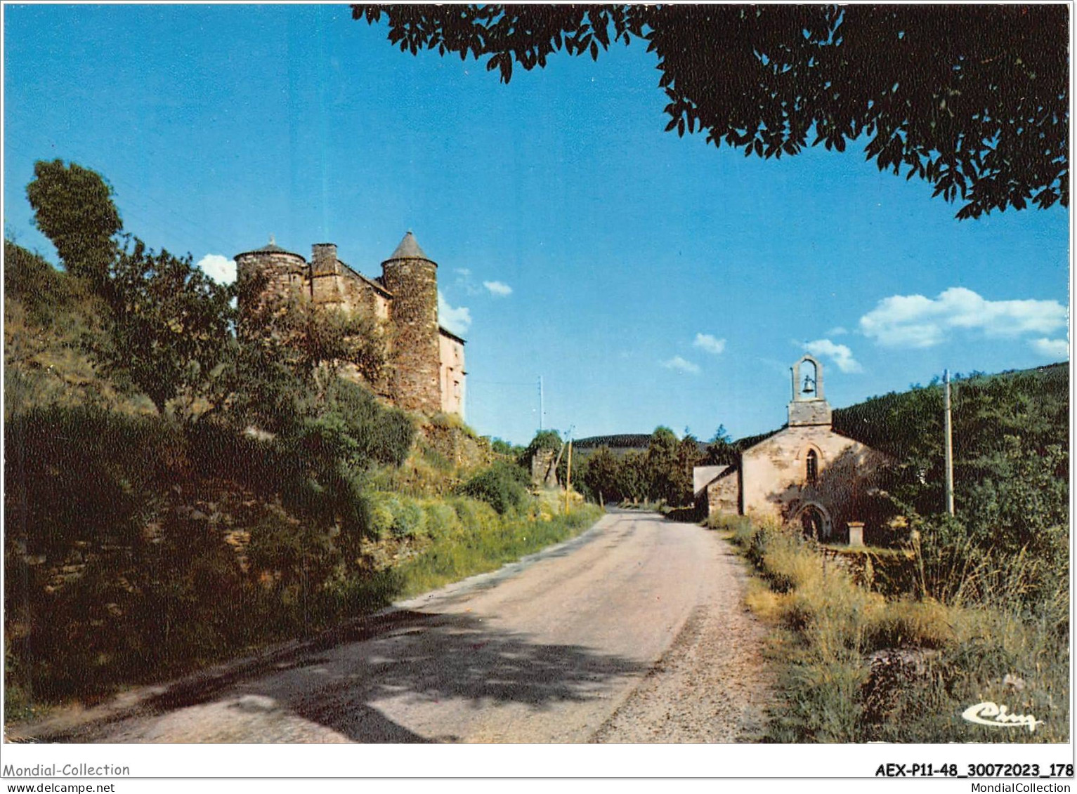
[[[611,513],[536,559],[400,605],[374,637],[75,740],[751,740],[768,686],[743,586],[714,533]]]

